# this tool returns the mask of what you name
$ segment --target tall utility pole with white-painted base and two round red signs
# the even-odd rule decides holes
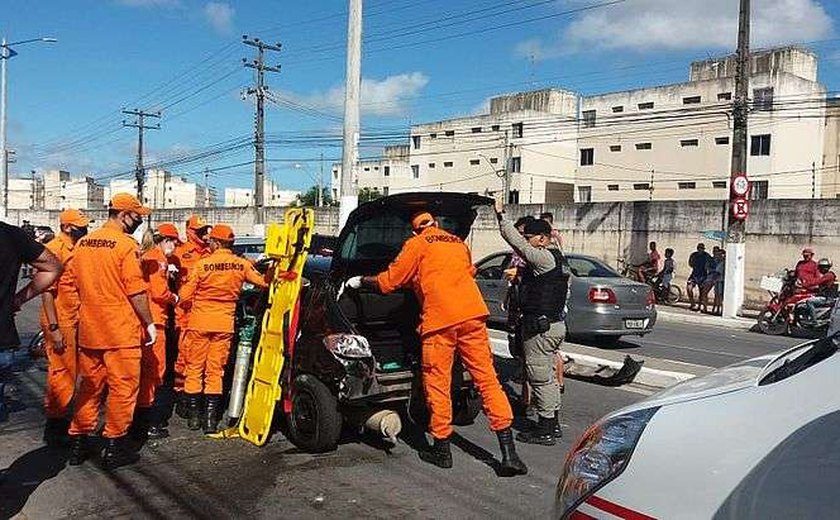
[[[735,218],[733,189],[736,177],[747,174],[747,117],[750,87],[750,0],[741,0],[738,17],[738,51],[735,69],[735,101],[732,106],[732,168],[729,181],[729,218],[726,237],[726,284],[723,295],[723,316],[734,318],[744,303],[746,238],[743,220]]]

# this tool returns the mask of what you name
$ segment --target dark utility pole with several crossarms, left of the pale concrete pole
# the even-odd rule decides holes
[[[242,63],[257,73],[257,84],[248,89],[248,94],[257,98],[257,113],[254,118],[254,222],[261,226],[265,224],[265,84],[266,72],[280,72],[280,66],[265,64],[265,51],[279,52],[281,44],[265,43],[259,38],[242,36],[242,43],[257,49],[257,56],[252,61],[242,58]]]

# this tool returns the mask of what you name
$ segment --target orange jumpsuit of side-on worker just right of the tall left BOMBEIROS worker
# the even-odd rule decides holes
[[[155,388],[163,384],[166,372],[166,314],[175,305],[176,297],[169,290],[169,263],[160,247],[146,251],[140,259],[143,279],[149,285],[149,310],[157,329],[155,344],[142,349],[140,360],[140,393],[137,406],[149,408],[155,401]]]

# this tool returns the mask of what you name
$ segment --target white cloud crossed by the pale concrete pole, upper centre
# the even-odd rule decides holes
[[[375,116],[402,116],[408,112],[411,98],[415,97],[429,83],[429,78],[422,72],[411,72],[388,76],[384,79],[362,79],[360,95],[361,110]],[[344,85],[336,86],[327,92],[309,95],[285,93],[297,101],[319,110],[340,114],[344,110]]]

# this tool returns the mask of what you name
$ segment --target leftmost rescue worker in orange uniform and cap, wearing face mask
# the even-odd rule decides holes
[[[43,295],[41,330],[44,331],[48,369],[44,396],[44,442],[58,446],[67,441],[70,419],[67,412],[76,392],[76,330],[79,325],[79,295],[70,270],[76,242],[87,234],[90,220],[77,209],[58,215],[61,232],[47,243],[61,261],[64,272]]]

